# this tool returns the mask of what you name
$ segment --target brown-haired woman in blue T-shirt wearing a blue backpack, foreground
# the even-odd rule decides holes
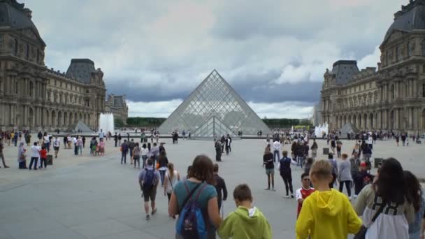
[[[212,186],[215,184],[213,171],[214,165],[210,158],[196,156],[189,178],[175,185],[168,204],[170,217],[179,215],[175,238],[215,238],[215,231],[222,223],[222,218],[218,210],[217,191]],[[199,227],[201,224],[206,227]]]

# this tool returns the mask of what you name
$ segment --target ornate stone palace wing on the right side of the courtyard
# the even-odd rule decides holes
[[[411,0],[394,15],[380,45],[377,68],[336,61],[322,86],[322,122],[338,129],[425,132],[425,0]]]

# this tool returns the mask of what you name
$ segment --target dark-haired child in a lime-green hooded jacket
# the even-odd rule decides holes
[[[271,226],[256,207],[252,207],[252,195],[247,184],[238,185],[233,191],[235,211],[231,212],[220,225],[220,238],[271,239]]]

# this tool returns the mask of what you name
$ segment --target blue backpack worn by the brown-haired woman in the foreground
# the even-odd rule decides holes
[[[195,198],[192,195],[202,184],[198,194]],[[188,193],[187,198],[182,204],[182,210],[180,211],[178,222],[175,225],[177,233],[185,239],[192,238],[207,238],[207,226],[205,219],[203,218],[202,210],[199,203],[196,201],[203,189],[207,186],[206,183],[200,183],[189,192],[186,182],[184,183],[186,191]],[[189,201],[189,202],[188,202]]]

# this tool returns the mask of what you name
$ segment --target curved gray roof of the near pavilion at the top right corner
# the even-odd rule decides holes
[[[425,1],[417,0],[396,13],[396,18],[385,34],[384,42],[394,30],[411,32],[413,29],[425,29]]]

